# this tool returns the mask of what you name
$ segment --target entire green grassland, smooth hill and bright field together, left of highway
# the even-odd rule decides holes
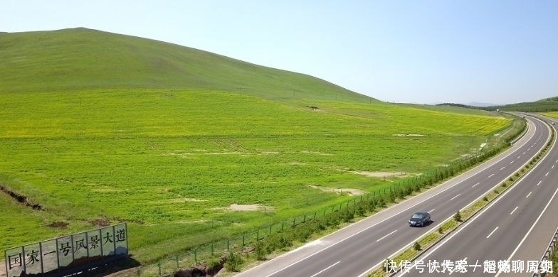
[[[0,193],[0,249],[125,220],[154,261],[401,179],[357,171],[445,165],[510,124],[85,28],[0,33],[0,75],[0,185],[46,209]]]

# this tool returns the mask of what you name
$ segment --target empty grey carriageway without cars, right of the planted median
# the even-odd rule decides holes
[[[552,144],[547,156],[532,168],[522,180],[470,219],[456,232],[434,246],[418,261],[424,264],[438,261],[467,261],[479,264],[465,267],[466,276],[531,276],[527,261],[539,261],[558,226],[558,147]],[[465,260],[466,259],[466,260]],[[485,272],[485,261],[494,261],[495,272]],[[510,273],[498,273],[498,262],[508,261]],[[512,272],[512,261],[522,261],[523,270]],[[440,268],[443,269],[443,268]],[[424,268],[426,272],[431,268]],[[416,268],[399,276],[420,276]],[[428,275],[448,275],[428,273]]]

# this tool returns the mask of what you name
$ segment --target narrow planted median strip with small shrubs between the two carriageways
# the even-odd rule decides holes
[[[404,251],[397,254],[396,256],[391,257],[391,259],[387,259],[386,264],[394,266],[394,268],[398,268],[401,265],[401,261],[414,261],[414,259],[418,258],[418,255],[420,255],[424,251],[424,249],[427,249],[429,246],[432,246],[440,239],[443,239],[443,237],[446,234],[453,232],[453,230],[459,227],[460,224],[463,224],[463,222],[473,217],[477,212],[482,210],[483,207],[485,207],[490,202],[492,202],[492,200],[498,197],[498,195],[500,195],[502,192],[507,190],[507,188],[510,188],[512,185],[514,185],[514,183],[520,178],[522,178],[522,176],[525,175],[528,172],[528,170],[530,170],[530,168],[535,166],[535,164],[542,157],[544,157],[544,154],[547,153],[549,148],[552,146],[552,142],[554,141],[554,136],[555,136],[554,131],[552,131],[552,136],[549,139],[547,145],[542,149],[542,151],[540,151],[537,154],[537,156],[535,156],[535,158],[533,158],[527,165],[525,165],[520,170],[517,170],[512,176],[510,176],[510,178],[502,182],[498,187],[495,188],[495,190],[493,190],[492,192],[488,192],[482,199],[472,203],[468,207],[465,207],[463,210],[456,212],[453,218],[446,220],[446,222],[443,222],[440,225],[440,227],[438,227],[438,229],[433,230],[425,234],[423,237],[419,238],[416,241],[416,244],[414,246],[405,249]],[[377,270],[373,271],[368,276],[369,277],[388,276],[389,274],[386,273],[386,271],[391,271],[391,270],[386,268],[385,266],[386,264],[384,264],[384,266],[382,266],[381,268],[378,268]]]

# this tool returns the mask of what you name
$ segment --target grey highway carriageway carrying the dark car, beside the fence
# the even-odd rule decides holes
[[[238,276],[364,276],[372,266],[437,228],[443,219],[479,199],[528,163],[549,136],[540,121],[530,119],[529,123],[530,131],[525,138],[493,160]],[[431,212],[434,222],[423,228],[409,227],[407,219],[419,210]]]

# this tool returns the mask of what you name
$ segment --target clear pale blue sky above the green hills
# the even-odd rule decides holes
[[[396,102],[558,96],[558,1],[8,1],[0,31],[85,27]]]

